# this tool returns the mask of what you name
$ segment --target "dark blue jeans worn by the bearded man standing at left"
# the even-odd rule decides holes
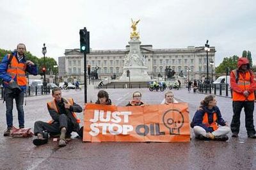
[[[20,92],[19,95],[13,96],[8,93],[4,94],[5,103],[6,103],[6,123],[7,127],[10,128],[13,126],[13,116],[12,116],[12,109],[13,109],[13,98],[15,98],[16,108],[18,111],[18,120],[19,120],[19,127],[24,128],[24,110],[23,110],[23,101],[24,101],[24,92]]]

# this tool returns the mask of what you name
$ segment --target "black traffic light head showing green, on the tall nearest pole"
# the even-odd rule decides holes
[[[90,32],[84,29],[80,29],[80,51],[85,53],[90,53]]]

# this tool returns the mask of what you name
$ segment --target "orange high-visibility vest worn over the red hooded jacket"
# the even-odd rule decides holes
[[[232,72],[234,73],[234,75],[237,79],[237,71],[232,70]],[[250,88],[250,84],[251,84],[251,74],[250,74],[250,72],[246,72],[245,77],[243,77],[241,75],[241,73],[239,73],[239,79],[237,81],[237,86],[243,91],[243,90],[246,90],[246,89]],[[233,91],[233,101],[245,101],[245,100],[252,101],[254,99],[255,99],[254,93],[250,93],[250,95],[246,98],[246,97],[244,97],[243,94],[237,93],[236,91]]]

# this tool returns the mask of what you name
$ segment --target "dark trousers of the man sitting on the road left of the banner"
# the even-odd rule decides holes
[[[54,123],[46,123],[44,121],[36,121],[34,125],[34,134],[42,134],[44,130],[52,135],[60,134],[61,128],[65,127],[67,129],[66,134],[71,134],[74,130],[74,125],[70,119],[65,114],[60,114],[59,121],[54,121]]]

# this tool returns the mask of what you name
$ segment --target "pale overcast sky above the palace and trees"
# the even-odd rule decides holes
[[[160,48],[216,47],[216,65],[224,57],[252,52],[256,64],[255,0],[0,0],[0,48],[27,50],[58,61],[65,49],[79,48],[79,29],[90,31],[92,49],[125,49],[131,18],[140,19],[142,44]]]

